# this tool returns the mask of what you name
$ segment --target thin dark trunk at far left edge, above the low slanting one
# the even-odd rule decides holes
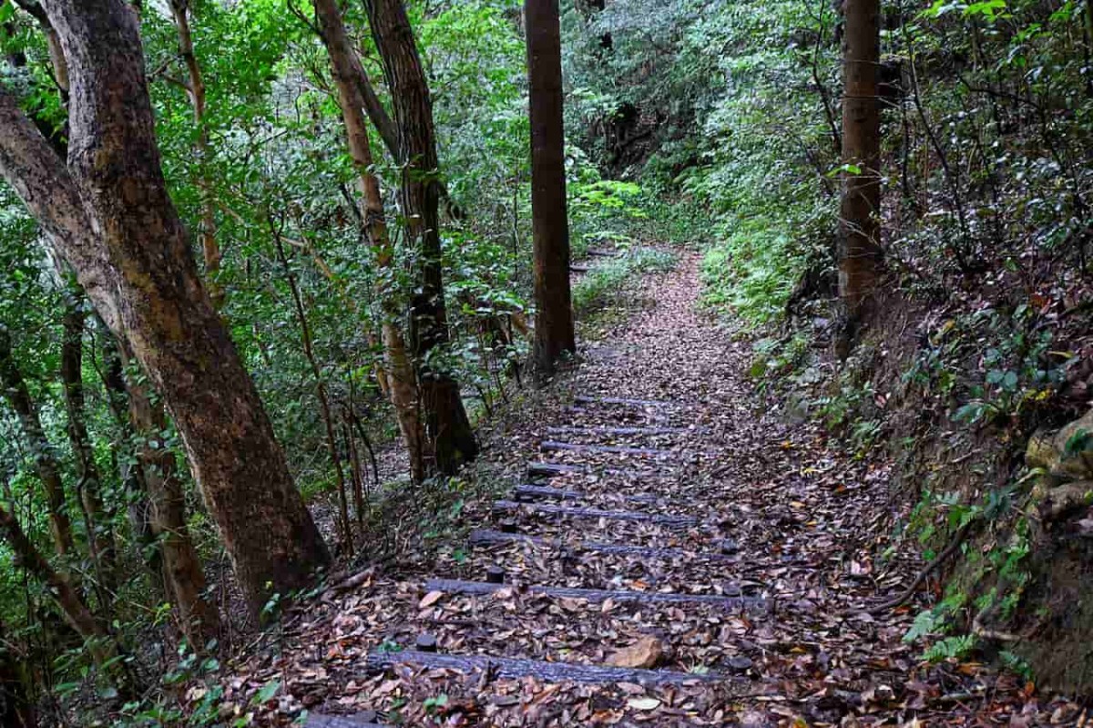
[[[0,386],[3,387],[4,399],[19,415],[19,423],[23,436],[26,438],[26,444],[31,448],[38,480],[42,481],[46,492],[46,503],[49,508],[49,531],[52,536],[54,548],[58,555],[66,556],[74,553],[74,547],[72,521],[69,519],[68,507],[64,503],[61,466],[57,461],[54,447],[46,437],[45,430],[42,427],[38,408],[31,399],[31,392],[26,388],[22,373],[15,366],[11,347],[11,336],[8,333],[8,329],[0,326]]]

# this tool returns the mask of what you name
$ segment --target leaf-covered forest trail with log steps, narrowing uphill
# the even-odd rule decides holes
[[[871,560],[886,471],[779,422],[745,375],[749,344],[700,313],[697,265],[647,279],[650,305],[559,387],[576,396],[493,445],[528,472],[468,509],[468,543],[328,590],[244,670],[251,683],[283,680],[283,708],[302,703],[316,726],[972,725],[1020,711],[1014,678],[925,666],[901,642],[917,610],[866,613],[917,566]]]

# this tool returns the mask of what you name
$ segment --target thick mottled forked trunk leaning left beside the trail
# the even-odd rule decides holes
[[[257,613],[329,553],[167,195],[137,12],[125,0],[46,11],[69,64],[69,165],[0,91],[0,173],[163,395]]]

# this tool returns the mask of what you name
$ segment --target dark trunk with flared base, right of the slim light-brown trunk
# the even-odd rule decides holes
[[[402,166],[402,212],[416,246],[416,292],[410,312],[410,351],[424,415],[426,468],[454,474],[478,455],[459,384],[432,363],[449,341],[440,256],[439,163],[433,103],[402,0],[364,0],[395,105]]]

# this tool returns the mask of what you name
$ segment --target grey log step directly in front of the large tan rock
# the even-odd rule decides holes
[[[444,655],[439,653],[368,653],[365,666],[369,672],[386,672],[398,665],[412,665],[426,669],[458,670],[460,672],[482,672],[494,678],[518,680],[536,678],[541,682],[619,683],[631,682],[639,685],[661,685],[684,682],[712,682],[725,680],[716,673],[697,674],[670,670],[633,670],[630,668],[578,665],[576,662],[546,662],[514,657],[490,657],[487,655]]]

